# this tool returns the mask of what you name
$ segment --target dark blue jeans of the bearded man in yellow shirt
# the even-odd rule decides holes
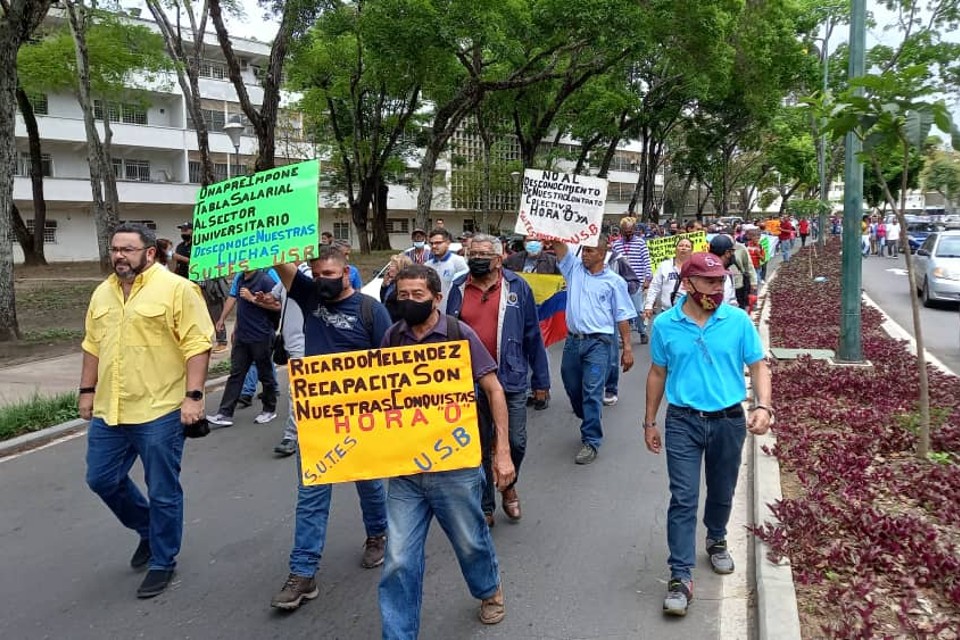
[[[147,498],[128,475],[140,457]],[[87,431],[87,486],[120,524],[150,541],[150,568],[173,569],[183,539],[180,410],[151,422],[108,426],[102,418]]]

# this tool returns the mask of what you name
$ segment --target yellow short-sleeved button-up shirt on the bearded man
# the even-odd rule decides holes
[[[213,333],[196,284],[155,264],[124,300],[111,274],[93,292],[83,339],[99,361],[93,415],[109,425],[143,424],[178,409],[186,361],[210,350]]]

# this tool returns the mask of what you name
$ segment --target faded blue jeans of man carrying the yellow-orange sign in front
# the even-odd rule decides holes
[[[453,545],[470,594],[483,599],[497,592],[500,565],[480,508],[483,482],[478,467],[390,479],[390,536],[380,576],[383,640],[413,640],[420,633],[424,544],[434,516]]]

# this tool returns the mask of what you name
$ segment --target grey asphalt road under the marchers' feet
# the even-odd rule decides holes
[[[660,611],[669,497],[664,459],[646,452],[638,429],[647,348],[636,344],[620,404],[604,410],[598,460],[580,467],[560,346],[551,350],[551,406],[530,412],[524,518],[510,524],[498,512],[493,530],[507,617],[494,627],[477,621],[478,602],[434,526],[421,638],[718,638],[721,578],[702,552],[687,617]],[[378,638],[380,571],[360,568],[364,533],[350,486],[334,491],[320,598],[292,614],[270,608],[288,572],[297,472],[294,458],[272,453],[281,421],[254,425],[255,409],[187,442],[183,551],[176,582],[153,600],[134,595],[135,534],[84,483],[84,437],[0,461],[0,638]]]

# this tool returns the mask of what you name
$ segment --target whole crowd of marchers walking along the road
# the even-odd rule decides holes
[[[781,237],[793,233],[789,220],[778,222]],[[803,230],[810,227],[803,222],[796,231],[805,242]],[[135,569],[147,569],[138,597],[162,593],[174,575],[183,529],[184,438],[205,435],[208,425],[232,425],[235,409],[252,402],[258,380],[263,407],[255,421],[275,419],[279,324],[291,358],[467,341],[478,389],[482,463],[355,483],[366,530],[360,563],[383,566],[383,638],[416,638],[425,540],[436,518],[470,593],[480,601],[480,621],[500,622],[505,597],[490,531],[497,493],[507,519],[521,520],[518,478],[527,412],[546,409],[551,389],[534,294],[518,274],[553,273],[563,277],[567,290],[560,371],[580,421],[576,464],[598,458],[604,407],[618,402],[619,375],[634,364],[633,333],[641,345],[649,344],[646,410],[637,428],[647,448],[667,458],[671,580],[663,609],[684,615],[693,598],[701,467],[707,487],[704,548],[714,571],[730,573],[726,526],[740,450],[747,431],[764,433],[773,418],[769,372],[744,311],[762,280],[765,259],[757,251],[763,250],[760,229],[743,225],[732,234],[713,235],[705,252],[695,252],[681,237],[674,257],[651,264],[645,238],[650,231],[624,217],[612,237],[601,236],[595,247],[574,250],[531,236],[513,252],[497,237],[473,234],[463,238],[461,256],[450,251],[452,237],[442,225],[429,234],[418,229],[413,248],[391,259],[380,300],[359,291],[349,247],[325,234],[306,263],[239,274],[216,307],[207,290],[177,275],[189,266],[189,225],[183,226],[186,246],[172,253],[169,243],[161,249],[149,229],[120,225],[111,243],[114,272],[94,292],[87,313],[79,409],[91,421],[87,484],[139,536],[130,560]],[[670,225],[666,231],[679,229]],[[221,337],[226,341],[225,320],[234,311],[230,376],[217,413],[205,417],[210,352]],[[746,411],[744,367],[753,381],[753,403]],[[658,425],[664,397],[666,418]],[[296,439],[291,407],[275,451],[296,453]],[[147,496],[128,475],[138,457]],[[329,484],[307,486],[298,477],[289,574],[271,600],[286,610],[319,595],[315,573],[332,493]]]

